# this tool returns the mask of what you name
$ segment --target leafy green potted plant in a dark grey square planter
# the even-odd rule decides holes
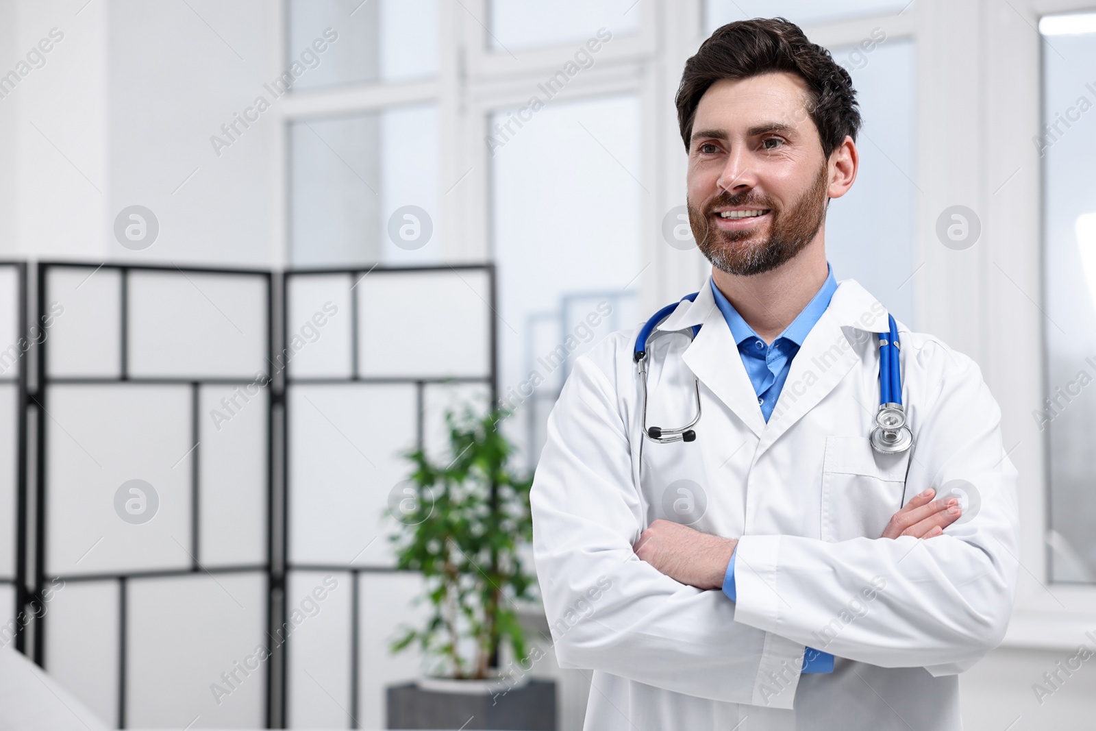
[[[509,464],[513,446],[499,429],[507,415],[448,411],[448,454],[406,454],[413,470],[390,511],[400,525],[391,540],[398,567],[422,573],[430,615],[406,627],[392,651],[418,647],[427,670],[388,688],[390,729],[556,728],[555,685],[529,678],[544,655],[518,617],[535,586],[521,555],[533,538],[533,478]],[[516,661],[502,666],[507,654]]]

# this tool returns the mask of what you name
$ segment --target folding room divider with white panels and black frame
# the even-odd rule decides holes
[[[122,728],[383,726],[421,586],[386,506],[446,408],[496,398],[493,267],[26,272],[0,263],[11,641]]]

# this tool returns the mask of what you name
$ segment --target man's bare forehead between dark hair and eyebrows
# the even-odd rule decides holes
[[[809,113],[807,82],[787,71],[746,79],[720,79],[700,98],[693,129],[733,130],[763,122],[798,127],[813,126]]]

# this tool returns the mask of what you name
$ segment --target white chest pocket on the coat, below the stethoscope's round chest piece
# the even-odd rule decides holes
[[[827,436],[822,464],[822,540],[879,538],[902,506],[910,453],[884,455],[866,436]]]

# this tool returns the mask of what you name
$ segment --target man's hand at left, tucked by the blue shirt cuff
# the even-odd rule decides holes
[[[707,590],[722,589],[738,542],[659,519],[648,526],[632,548],[636,556],[671,579]]]

